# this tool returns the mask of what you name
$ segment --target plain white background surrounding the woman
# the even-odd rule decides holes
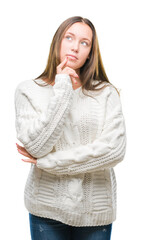
[[[115,167],[117,220],[112,240],[140,238],[141,216],[141,33],[140,1],[5,0],[0,4],[0,238],[30,240],[23,191],[30,165],[16,149],[14,91],[41,74],[52,37],[68,17],[89,18],[97,31],[103,63],[121,89],[127,150]],[[19,143],[19,142],[18,142]]]

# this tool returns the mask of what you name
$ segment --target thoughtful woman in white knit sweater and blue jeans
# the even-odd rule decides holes
[[[24,201],[32,240],[109,240],[126,130],[88,19],[60,25],[44,72],[17,86],[15,110],[17,148],[31,163]]]

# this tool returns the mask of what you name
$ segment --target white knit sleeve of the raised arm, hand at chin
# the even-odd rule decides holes
[[[52,151],[63,131],[69,112],[73,88],[69,75],[57,74],[46,111],[34,104],[40,92],[29,86],[18,85],[15,90],[15,127],[17,139],[33,157],[39,158]]]

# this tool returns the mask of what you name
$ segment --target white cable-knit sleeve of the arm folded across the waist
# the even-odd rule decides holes
[[[110,87],[101,135],[92,143],[50,153],[37,159],[37,167],[56,175],[75,175],[114,167],[123,160],[126,129],[119,95]]]

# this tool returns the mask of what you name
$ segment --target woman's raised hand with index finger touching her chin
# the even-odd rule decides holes
[[[57,74],[68,74],[71,77],[72,80],[72,84],[73,82],[76,84],[77,81],[75,78],[79,78],[79,76],[77,75],[77,73],[75,72],[74,69],[70,68],[70,67],[65,67],[66,64],[68,62],[68,58],[66,57],[63,62],[61,62],[58,66],[57,66]]]

